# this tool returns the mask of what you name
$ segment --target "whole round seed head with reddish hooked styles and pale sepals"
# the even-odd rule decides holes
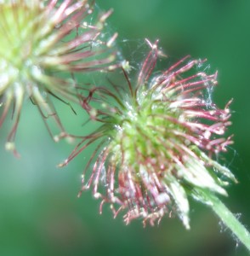
[[[229,104],[219,109],[205,94],[217,84],[216,73],[192,73],[204,61],[187,56],[162,73],[153,74],[160,55],[151,44],[138,79],[127,92],[94,87],[82,106],[99,128],[82,142],[61,166],[96,143],[82,174],[82,190],[111,204],[124,220],[143,218],[154,224],[163,215],[177,214],[189,228],[189,201],[206,203],[202,191],[226,195],[224,185],[235,177],[213,157],[232,143],[224,138],[230,125]],[[96,102],[104,103],[96,107]],[[94,103],[94,104],[93,104]],[[92,172],[88,175],[88,167]],[[87,180],[87,181],[86,181]]]

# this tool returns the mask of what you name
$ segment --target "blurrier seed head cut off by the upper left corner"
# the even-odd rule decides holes
[[[45,121],[53,116],[65,133],[49,97],[76,101],[76,82],[69,79],[73,73],[115,67],[111,44],[116,34],[107,42],[100,39],[111,11],[99,15],[95,23],[89,19],[93,11],[88,0],[0,1],[0,126],[9,108],[14,108],[7,149],[14,150],[25,98],[31,99]]]

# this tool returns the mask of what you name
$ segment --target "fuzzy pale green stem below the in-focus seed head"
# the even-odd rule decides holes
[[[222,201],[212,193],[202,193],[207,204],[219,216],[221,221],[236,235],[236,237],[250,251],[250,234],[247,229],[239,222],[235,215],[224,206]]]

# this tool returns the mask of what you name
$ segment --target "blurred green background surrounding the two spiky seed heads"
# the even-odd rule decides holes
[[[226,163],[240,183],[223,198],[250,229],[250,2],[248,0],[105,0],[100,9],[115,10],[109,19],[111,32],[131,65],[147,53],[145,38],[160,39],[170,59],[184,55],[207,58],[211,73],[219,71],[213,99],[223,108],[234,98],[230,133],[235,144]],[[168,61],[167,61],[168,62]],[[162,64],[163,65],[163,64]],[[90,193],[77,199],[84,159],[58,169],[74,145],[53,143],[43,119],[31,102],[22,113],[17,147],[21,158],[3,150],[10,123],[1,129],[0,255],[107,255],[107,256],[230,256],[248,255],[224,230],[207,207],[191,203],[191,230],[179,219],[163,218],[155,227],[140,221],[125,226],[122,217],[112,218]],[[83,131],[83,112],[72,115],[58,104],[68,130]],[[77,128],[76,128],[77,127]],[[84,131],[88,132],[88,131]]]

